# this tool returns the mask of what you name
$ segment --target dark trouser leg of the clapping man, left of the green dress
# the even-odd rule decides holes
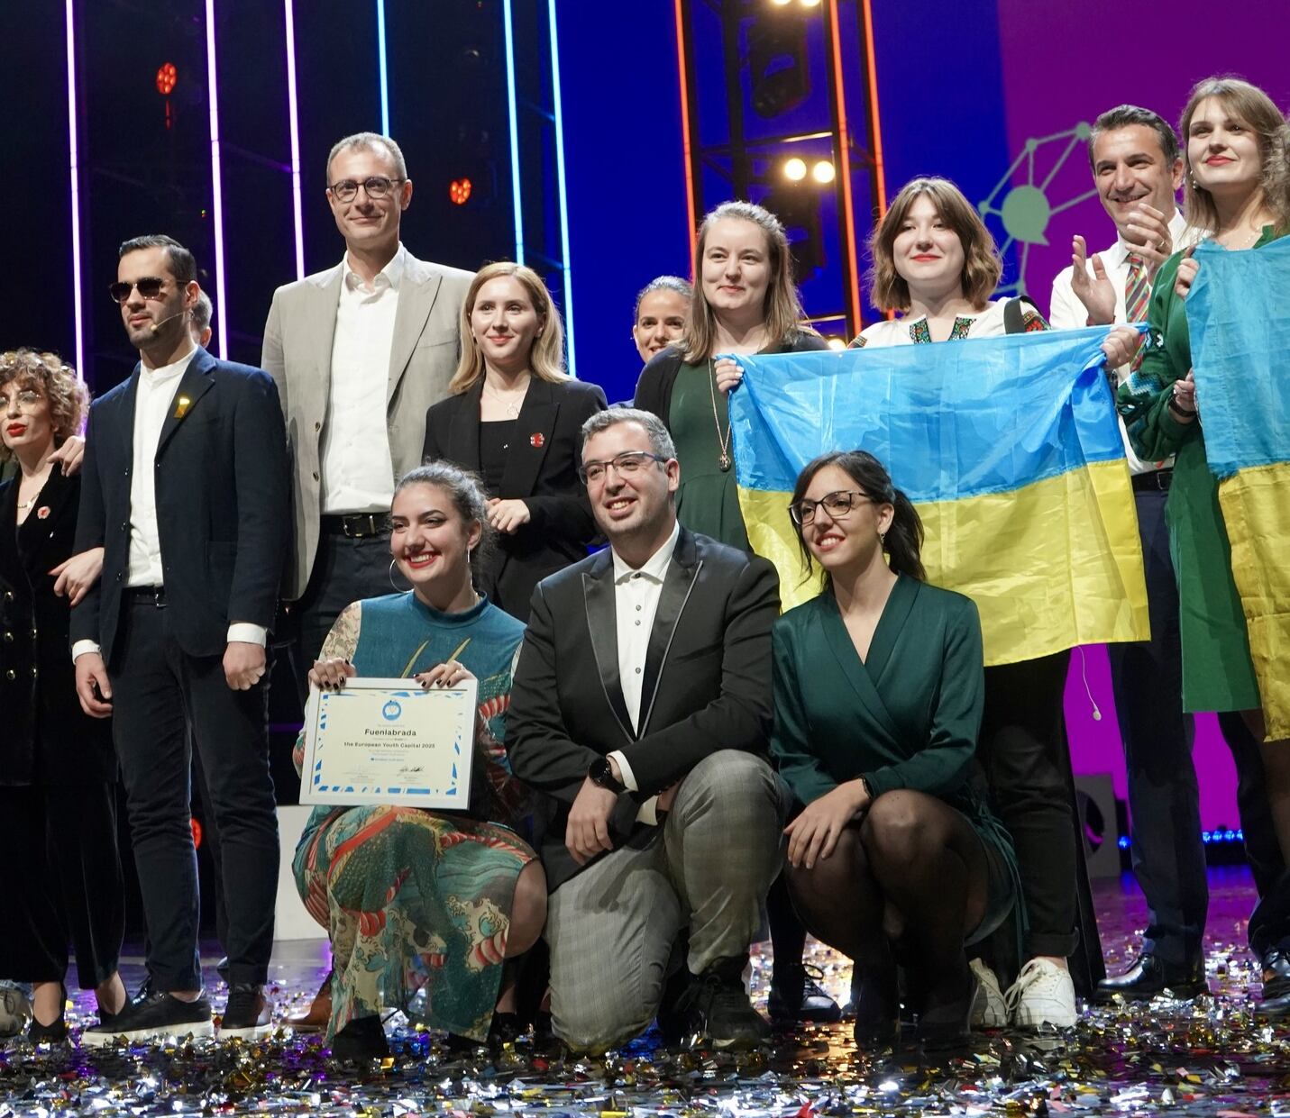
[[[1178,580],[1165,524],[1167,498],[1162,489],[1134,494],[1151,640],[1109,645],[1107,652],[1129,778],[1133,869],[1147,899],[1143,950],[1183,963],[1202,950],[1209,885],[1192,763],[1195,726],[1183,713]],[[1254,756],[1258,760],[1256,748]]]

